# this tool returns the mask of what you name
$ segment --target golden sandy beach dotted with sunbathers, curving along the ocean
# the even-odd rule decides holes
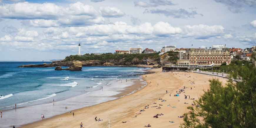
[[[143,80],[148,83],[147,86],[131,95],[74,110],[72,111],[74,112],[74,117],[72,112],[65,113],[26,124],[23,127],[79,128],[82,122],[85,128],[105,128],[108,127],[108,120],[110,119],[110,127],[112,128],[144,127],[144,125],[148,124],[154,128],[177,128],[183,122],[183,118],[178,118],[178,116],[188,111],[187,107],[192,104],[193,98],[198,99],[204,93],[203,90],[207,91],[209,79],[220,79],[223,84],[227,80],[199,73],[162,72],[162,68],[152,69],[151,71],[156,73],[142,76]],[[192,82],[195,84],[192,84]],[[179,96],[174,97],[176,91],[183,89],[184,86],[187,87],[185,88],[185,93],[182,92]],[[184,95],[189,96],[184,99]],[[166,101],[158,100],[159,97]],[[156,104],[153,104],[154,102]],[[188,104],[184,104],[184,102]],[[145,109],[147,104],[149,107]],[[161,107],[160,109],[158,109],[159,106]],[[144,111],[140,112],[142,109]],[[153,118],[154,115],[161,113],[164,115],[158,116],[159,118]],[[95,121],[95,117],[103,119],[103,121]]]

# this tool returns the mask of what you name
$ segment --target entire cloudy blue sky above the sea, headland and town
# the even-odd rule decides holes
[[[0,0],[0,61],[256,45],[256,0]],[[193,44],[193,46],[192,46]]]

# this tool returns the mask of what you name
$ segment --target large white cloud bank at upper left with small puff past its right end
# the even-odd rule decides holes
[[[26,7],[26,8],[24,8]],[[120,17],[122,11],[110,8],[106,16]],[[114,14],[111,14],[111,13]],[[82,26],[105,24],[106,21],[91,5],[81,2],[70,4],[68,7],[58,6],[53,3],[28,3],[3,4],[0,6],[0,18],[21,19],[23,24],[34,27],[50,26]],[[27,19],[27,20],[26,20]]]

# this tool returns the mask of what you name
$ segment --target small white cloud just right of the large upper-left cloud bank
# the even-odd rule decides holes
[[[115,7],[100,7],[100,13],[104,17],[115,17],[115,18],[122,17],[125,15],[124,12],[122,12],[121,10]]]

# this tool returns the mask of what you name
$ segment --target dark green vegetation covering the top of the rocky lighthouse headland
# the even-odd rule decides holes
[[[85,54],[87,55],[87,54]],[[65,58],[65,61],[87,61],[87,60],[97,60],[103,62],[109,61],[120,61],[123,60],[124,63],[132,62],[133,59],[138,59],[142,61],[144,59],[154,59],[154,61],[159,60],[158,53],[152,54],[103,54],[103,55],[92,55],[92,56],[77,56],[77,55],[70,55]]]

